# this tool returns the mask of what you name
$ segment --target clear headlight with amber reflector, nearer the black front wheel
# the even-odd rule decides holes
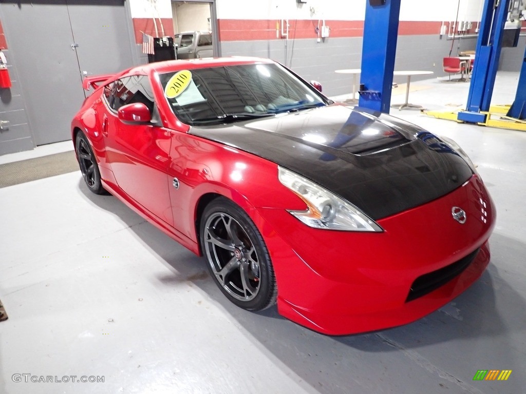
[[[356,206],[295,172],[278,167],[278,178],[307,204],[306,211],[288,212],[308,226],[326,230],[383,231]]]

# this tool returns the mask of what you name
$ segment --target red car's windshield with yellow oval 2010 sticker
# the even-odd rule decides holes
[[[177,118],[210,125],[326,105],[316,90],[276,64],[198,68],[159,75]]]

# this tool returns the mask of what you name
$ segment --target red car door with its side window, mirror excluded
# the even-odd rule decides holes
[[[103,135],[117,185],[158,219],[173,226],[167,175],[170,132],[154,122],[125,123],[117,116],[120,107],[136,102],[144,103],[152,114],[156,112],[148,77],[116,80],[105,100],[108,112]]]

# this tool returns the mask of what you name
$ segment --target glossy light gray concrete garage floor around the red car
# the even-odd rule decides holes
[[[513,100],[517,77],[499,74],[495,102]],[[432,109],[464,103],[469,87],[414,84],[432,88],[412,91],[410,102]],[[0,189],[9,315],[0,322],[0,392],[526,392],[526,133],[392,113],[456,139],[497,205],[491,264],[453,302],[403,327],[345,337],[302,328],[275,307],[245,312],[221,295],[204,259],[73,172]],[[513,372],[473,381],[479,369]]]

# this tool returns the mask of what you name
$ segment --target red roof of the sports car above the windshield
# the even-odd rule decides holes
[[[237,66],[244,64],[256,64],[265,63],[273,64],[274,61],[270,59],[264,59],[259,57],[245,57],[245,56],[232,56],[232,57],[209,57],[200,59],[188,59],[188,60],[166,60],[156,61],[155,63],[149,63],[129,69],[125,74],[151,74],[151,72],[169,72],[184,69],[196,69],[206,67],[219,67],[219,66]]]

